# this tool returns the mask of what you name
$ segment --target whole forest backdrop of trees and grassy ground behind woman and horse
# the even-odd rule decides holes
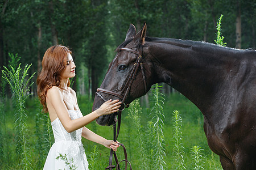
[[[0,69],[4,70],[3,66],[7,67],[10,64],[10,56],[17,54],[20,59],[16,62],[21,63],[21,67],[32,64],[28,70],[28,77],[31,76],[31,81],[28,83],[36,82],[46,49],[57,44],[68,46],[73,52],[72,56],[76,63],[76,77],[72,79],[72,88],[77,92],[82,113],[86,114],[91,111],[95,91],[104,78],[108,64],[115,56],[115,48],[125,39],[130,23],[133,23],[139,31],[142,24],[146,22],[147,36],[151,37],[170,37],[215,43],[217,20],[221,14],[224,15],[221,33],[225,36],[226,46],[238,49],[255,48],[255,0],[0,0]],[[32,76],[34,73],[35,75]],[[2,71],[0,74],[2,77]],[[3,81],[2,78],[1,81]],[[3,82],[0,83],[1,85],[4,84]],[[48,140],[52,134],[47,136],[49,138],[42,135],[47,131],[43,130],[44,128],[48,128],[48,132],[50,132],[50,122],[46,122],[48,121],[47,114],[44,114],[43,118],[40,114],[40,107],[37,105],[38,99],[36,98],[36,85],[30,86],[28,84],[28,87],[30,87],[30,91],[26,92],[30,93],[31,96],[25,104],[28,113],[26,123],[30,132],[34,131],[34,133],[27,135],[27,138],[31,141],[29,146],[31,146],[32,162],[36,164],[32,164],[32,166],[34,166],[34,169],[41,169],[49,146],[43,147],[42,154],[40,152],[40,147],[42,147],[40,139]],[[2,103],[0,102],[5,105],[6,111],[3,114],[2,111],[4,110],[1,110],[1,121],[5,120],[1,122],[1,127],[4,125],[6,128],[4,138],[0,141],[6,141],[6,145],[8,144],[2,147],[6,148],[6,155],[8,156],[6,158],[0,157],[0,162],[6,163],[2,164],[3,167],[17,169],[20,163],[16,163],[17,154],[14,150],[17,142],[13,140],[15,133],[12,129],[13,118],[15,117],[15,102],[11,96],[14,96],[14,94],[8,85],[0,86],[0,90],[1,92],[5,91],[7,95],[5,99],[2,99],[1,96]],[[203,146],[205,149],[204,156],[207,158],[204,160],[207,164],[205,168],[220,168],[217,156],[213,157],[207,146],[203,132],[203,115],[184,96],[171,94],[172,91],[172,88],[164,85],[163,93],[167,96],[164,113],[166,120],[171,120],[174,109],[178,109],[181,114],[185,113],[183,116],[185,152],[188,153],[189,147],[192,145]],[[143,102],[141,104],[143,105]],[[148,121],[150,112],[148,108],[147,104],[146,107],[143,107],[142,123]],[[4,118],[2,119],[2,117]],[[137,134],[135,129],[130,128],[134,118],[129,119],[127,117],[125,116],[122,131],[126,131],[125,134],[129,136],[121,136],[120,140],[127,143],[129,156],[131,156],[133,164],[139,165],[137,161],[138,153],[133,154],[131,152],[134,141],[130,138],[132,134]],[[164,124],[165,129],[167,129],[164,132],[166,133],[166,141],[171,141],[172,138],[171,125],[170,121]],[[147,125],[143,126],[146,127]],[[100,134],[108,134],[108,137],[112,133],[111,128],[99,128],[95,122],[89,125],[89,128]],[[147,134],[144,134],[144,136],[147,136]],[[2,145],[1,142],[0,145]],[[51,138],[48,142],[52,143],[53,139]],[[144,141],[144,143],[146,142]],[[85,144],[86,154],[95,151],[92,150],[94,144],[87,142]],[[166,155],[173,154],[170,148],[172,145],[165,146]],[[98,152],[101,158],[104,157],[97,165],[102,168],[106,164],[108,153],[101,147]],[[5,153],[2,154],[5,155]],[[88,155],[91,158],[90,154]],[[172,167],[175,159],[173,160],[170,156],[167,156],[167,158],[167,167]],[[184,159],[188,165],[187,169],[191,169],[189,155],[185,155]]]

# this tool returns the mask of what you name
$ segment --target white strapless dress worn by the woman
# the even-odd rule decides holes
[[[68,111],[71,120],[82,117],[80,111]],[[55,139],[49,150],[44,170],[81,169],[88,170],[88,162],[82,146],[82,128],[68,133],[59,118],[52,122],[52,131]],[[62,156],[61,156],[62,155]],[[57,156],[61,156],[58,160]]]

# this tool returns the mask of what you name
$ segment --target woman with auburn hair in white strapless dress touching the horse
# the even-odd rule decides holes
[[[117,112],[121,102],[108,100],[96,111],[82,116],[77,105],[76,92],[69,87],[69,78],[75,76],[75,63],[71,50],[65,46],[51,46],[42,60],[38,76],[38,96],[44,112],[49,113],[55,138],[44,169],[88,169],[88,162],[81,137],[100,143],[114,151],[117,142],[106,140],[85,128],[87,124],[104,114]]]

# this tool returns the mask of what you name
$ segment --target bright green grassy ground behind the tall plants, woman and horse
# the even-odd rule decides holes
[[[212,154],[212,151],[210,151],[208,145],[207,145],[207,138],[205,137],[204,130],[203,130],[203,114],[199,111],[199,109],[196,108],[195,105],[191,103],[188,99],[186,99],[183,95],[180,95],[178,93],[171,94],[170,96],[165,97],[165,103],[163,107],[163,112],[165,116],[164,126],[163,126],[163,134],[164,134],[164,141],[165,141],[165,152],[166,152],[166,169],[172,169],[172,165],[175,163],[175,160],[172,156],[172,146],[174,145],[174,142],[172,140],[172,131],[173,131],[173,123],[172,123],[172,117],[173,112],[175,110],[180,112],[180,116],[182,118],[182,136],[183,136],[183,147],[184,147],[184,162],[187,165],[186,169],[193,169],[193,159],[191,156],[191,148],[193,146],[200,146],[203,150],[201,151],[201,155],[204,156],[203,162],[205,162],[204,168],[205,169],[222,169],[220,165],[220,161],[218,160],[218,156],[215,154]],[[78,96],[78,103],[80,106],[80,109],[82,113],[85,115],[87,113],[90,113],[92,111],[92,101],[89,100],[88,96]],[[36,167],[36,164],[39,162],[38,158],[38,147],[36,147],[36,144],[38,143],[38,140],[36,140],[36,114],[38,114],[38,107],[35,104],[35,99],[30,98],[26,101],[25,107],[27,108],[27,128],[29,131],[31,131],[30,135],[27,135],[28,141],[28,147],[30,147],[30,155],[31,155],[31,163],[33,169],[40,169]],[[15,146],[15,143],[13,141],[14,138],[14,108],[11,105],[11,100],[7,99],[6,101],[6,136],[5,141],[9,143],[9,148],[7,148],[10,158],[9,160],[5,161],[0,165],[0,169],[19,169],[18,164],[16,164],[15,160],[12,159],[15,155],[15,149],[12,146]],[[137,130],[135,129],[133,125],[133,120],[128,116],[128,110],[125,109],[123,111],[122,116],[122,125],[121,125],[121,131],[118,137],[118,141],[123,143],[126,146],[128,159],[131,162],[133,168],[139,167],[141,164],[141,153],[138,150],[138,143],[134,141],[134,138],[136,137]],[[47,122],[48,117],[45,117],[47,114],[40,113],[41,118],[43,118],[43,121]],[[154,126],[154,124],[151,122],[150,115],[150,108],[142,108],[142,111],[140,113],[140,128],[142,130],[141,133],[145,133],[143,139],[144,141],[150,141],[151,139],[148,139],[150,137],[150,131],[148,131],[150,128],[148,126]],[[151,122],[151,123],[150,123]],[[37,125],[40,126],[40,130],[42,130],[42,134],[44,133],[44,128],[46,128],[46,125]],[[87,126],[89,129],[96,131],[97,134],[102,135],[103,137],[107,139],[113,138],[113,128],[112,126],[106,127],[106,126],[100,126],[97,125],[94,122],[89,124]],[[146,129],[146,130],[145,130]],[[51,133],[51,132],[50,132]],[[53,143],[53,136],[51,134],[51,139],[48,137],[49,143]],[[88,141],[86,139],[82,139],[82,142],[84,143],[85,153],[89,155],[91,152],[94,152],[94,145],[97,146],[97,163],[94,164],[94,169],[102,169],[105,168],[108,165],[109,160],[109,149],[105,148],[104,146],[98,145],[94,142]],[[146,144],[146,146],[148,143]],[[147,150],[146,147],[145,151]],[[48,154],[49,146],[41,148],[43,151],[46,152],[46,154],[43,154],[42,158],[40,158],[41,162],[45,162],[46,156]],[[148,158],[154,159],[154,156],[152,155]],[[118,159],[123,159],[123,152],[121,149],[117,152]],[[149,154],[150,155],[150,154]],[[2,159],[2,158],[1,158]],[[94,157],[96,159],[96,157]],[[42,168],[41,168],[42,169]]]

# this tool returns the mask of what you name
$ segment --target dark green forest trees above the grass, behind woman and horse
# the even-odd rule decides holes
[[[151,37],[214,43],[221,14],[226,46],[255,48],[255,0],[1,0],[0,67],[18,53],[37,75],[46,49],[65,45],[77,66],[73,88],[93,98],[130,23],[139,31],[146,22]]]

